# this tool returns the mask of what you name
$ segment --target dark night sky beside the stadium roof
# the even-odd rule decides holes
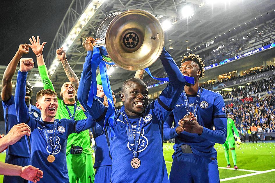
[[[47,42],[43,52],[48,53],[70,3],[70,0],[1,1],[0,65],[7,65],[19,44],[30,43],[31,36],[39,35],[40,42]],[[24,57],[35,55],[30,51]]]

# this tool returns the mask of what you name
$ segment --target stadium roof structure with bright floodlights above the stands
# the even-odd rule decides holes
[[[171,23],[171,28],[165,31],[165,46],[179,64],[180,55],[186,53],[187,47],[192,49],[268,11],[275,13],[274,7],[275,1],[269,0],[73,0],[56,33],[49,54],[44,55],[45,62],[55,88],[60,89],[68,78],[56,59],[56,49],[66,47],[68,61],[80,78],[86,56],[81,43],[84,38],[93,35],[97,23],[113,12],[143,9],[155,15],[161,23]],[[226,38],[226,35],[222,36]],[[169,47],[173,47],[173,50],[168,49]],[[161,68],[162,64],[158,60],[150,70],[157,74]],[[28,75],[31,83],[40,81],[39,75],[35,76],[35,73],[34,71]],[[122,82],[133,77],[134,73],[115,68],[110,77],[112,89],[120,88]]]

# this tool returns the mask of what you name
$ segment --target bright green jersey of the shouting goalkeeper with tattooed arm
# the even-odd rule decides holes
[[[41,80],[43,82],[44,89],[52,89],[54,90],[54,86],[52,84],[52,81],[49,78],[49,74],[47,71],[47,67],[45,65],[38,67]],[[54,90],[55,91],[55,90]],[[60,98],[58,98],[58,108],[56,110],[56,119],[70,119],[68,110],[66,108],[66,105],[64,101]],[[74,104],[73,105],[67,105],[68,109],[70,110],[71,114],[74,114]],[[74,114],[74,120],[81,120],[86,119],[86,115],[84,114],[83,110],[81,109],[81,105],[79,101],[77,101],[77,109]],[[90,146],[90,134],[89,130],[82,131],[80,133],[72,133],[69,135],[67,139],[67,152],[66,155],[70,153],[71,145],[74,146],[81,146],[83,148],[83,153],[86,154],[92,154],[91,146]]]

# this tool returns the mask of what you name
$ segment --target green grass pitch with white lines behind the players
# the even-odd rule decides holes
[[[226,160],[224,157],[224,150],[220,144],[216,144],[215,148],[218,152],[218,166],[226,167]],[[168,175],[172,165],[173,143],[163,144],[164,159]],[[252,171],[266,171],[275,168],[275,143],[242,143],[240,148],[236,147],[237,153],[237,166],[240,169]],[[229,152],[230,162],[233,165],[231,153]],[[5,161],[6,154],[0,154],[0,161]],[[239,171],[234,169],[219,168],[220,179],[235,177],[239,175],[252,174],[250,171]],[[0,183],[3,182],[3,175],[0,175]],[[223,181],[226,183],[236,182],[250,182],[250,183],[274,183],[275,171],[253,175],[249,177],[238,178],[234,180]]]

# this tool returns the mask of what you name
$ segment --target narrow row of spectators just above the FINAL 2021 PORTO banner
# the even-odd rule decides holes
[[[221,81],[205,83],[205,84],[201,85],[201,87],[208,87],[208,86],[220,84],[220,83],[227,82],[227,81],[232,81],[232,80],[235,80],[235,79],[244,78],[244,77],[247,77],[247,76],[251,76],[251,75],[254,75],[254,74],[259,74],[259,73],[262,73],[262,72],[265,72],[265,71],[271,71],[271,70],[275,70],[274,65],[268,65],[267,67],[264,67],[262,69],[255,69],[253,71],[246,72],[242,76],[233,75],[233,76],[229,76],[227,78],[223,78],[223,80],[221,80]]]

